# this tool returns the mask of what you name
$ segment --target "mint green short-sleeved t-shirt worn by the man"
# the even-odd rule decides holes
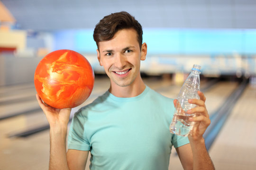
[[[75,113],[68,149],[90,150],[91,170],[168,170],[172,146],[189,143],[170,133],[173,114],[173,99],[147,86],[131,98],[107,91]]]

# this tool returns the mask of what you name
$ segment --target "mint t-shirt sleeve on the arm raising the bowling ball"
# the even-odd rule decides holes
[[[91,149],[85,134],[84,121],[85,118],[82,117],[80,112],[75,113],[68,134],[68,149],[81,151],[89,151]]]

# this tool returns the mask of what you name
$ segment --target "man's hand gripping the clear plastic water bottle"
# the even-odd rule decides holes
[[[206,128],[210,125],[210,118],[208,111],[205,106],[205,96],[201,91],[197,92],[200,96],[198,99],[189,99],[189,103],[196,104],[197,107],[192,108],[187,111],[187,114],[195,114],[195,117],[191,117],[189,120],[194,121],[194,127],[190,132],[189,139],[193,141],[198,141],[203,139],[203,134]]]

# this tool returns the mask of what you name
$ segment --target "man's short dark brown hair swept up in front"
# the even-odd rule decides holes
[[[125,11],[112,13],[103,17],[103,19],[101,19],[95,26],[93,39],[99,49],[99,42],[109,41],[119,30],[128,28],[133,28],[137,32],[137,41],[141,50],[143,34],[142,27],[135,17]]]

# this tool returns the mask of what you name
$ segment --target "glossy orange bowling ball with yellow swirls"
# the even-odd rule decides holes
[[[57,50],[38,63],[34,83],[46,104],[57,109],[74,108],[90,96],[94,72],[82,54]]]

